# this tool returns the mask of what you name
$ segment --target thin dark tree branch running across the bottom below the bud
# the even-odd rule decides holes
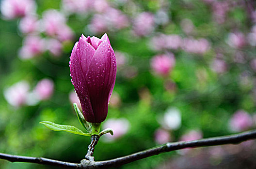
[[[242,141],[248,141],[251,139],[256,139],[256,130],[246,131],[239,134],[222,136],[222,137],[213,137],[208,139],[201,139],[195,141],[178,141],[178,142],[168,142],[160,146],[134,153],[132,155],[127,155],[112,160],[106,161],[89,161],[83,159],[81,163],[69,163],[63,161],[52,160],[48,158],[36,158],[36,157],[27,157],[19,155],[8,155],[0,153],[0,159],[5,159],[10,162],[29,162],[37,163],[51,166],[65,167],[69,169],[95,169],[95,168],[108,168],[108,167],[118,167],[133,161],[137,161],[149,156],[158,155],[160,153],[180,150],[183,148],[196,148],[204,146],[214,146],[214,145],[223,145],[223,144],[238,144]]]

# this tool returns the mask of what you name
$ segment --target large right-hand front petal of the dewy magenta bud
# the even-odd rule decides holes
[[[86,74],[87,87],[97,122],[106,119],[108,102],[116,76],[116,59],[109,42],[102,42],[90,63]]]

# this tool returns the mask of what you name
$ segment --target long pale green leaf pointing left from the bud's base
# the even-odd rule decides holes
[[[50,130],[53,130],[53,131],[66,131],[69,133],[78,134],[78,135],[82,135],[82,136],[89,136],[89,137],[91,136],[90,133],[84,133],[80,129],[78,129],[77,127],[74,127],[74,126],[58,125],[58,124],[48,122],[48,121],[40,122],[40,124],[45,125],[45,127],[49,128]]]

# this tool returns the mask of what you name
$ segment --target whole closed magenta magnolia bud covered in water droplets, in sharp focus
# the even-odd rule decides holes
[[[70,59],[71,77],[85,120],[104,121],[116,76],[115,54],[107,34],[101,39],[82,35]]]

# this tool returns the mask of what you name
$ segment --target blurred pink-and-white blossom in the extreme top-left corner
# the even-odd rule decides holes
[[[6,19],[32,14],[36,10],[34,0],[1,0],[0,10]]]

